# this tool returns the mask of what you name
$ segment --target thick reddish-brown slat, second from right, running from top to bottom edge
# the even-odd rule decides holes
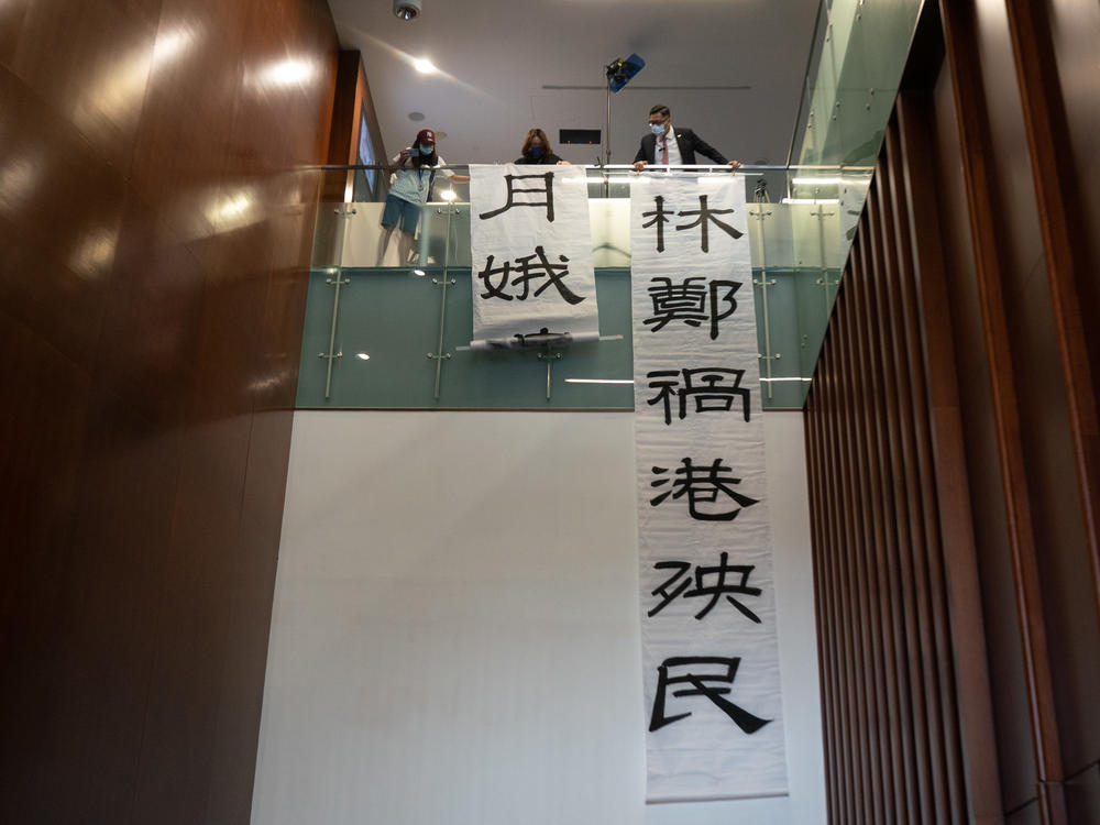
[[[1018,411],[1022,399],[1013,374],[1000,279],[1001,252],[996,221],[989,212],[990,205],[996,205],[997,198],[987,167],[991,144],[990,127],[985,114],[981,66],[977,57],[975,10],[969,3],[946,0],[941,0],[939,8],[947,44],[947,64],[955,91],[986,355],[990,367],[994,429],[1004,487],[1009,546],[1020,612],[1030,722],[1038,776],[1036,794],[1042,821],[1050,825],[1063,825],[1067,823],[1063,785],[1065,777]]]

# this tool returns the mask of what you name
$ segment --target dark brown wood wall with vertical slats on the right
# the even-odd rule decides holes
[[[834,823],[1100,823],[1098,8],[922,13],[806,406]]]

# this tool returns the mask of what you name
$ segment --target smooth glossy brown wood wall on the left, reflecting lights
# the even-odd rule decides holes
[[[337,51],[0,3],[0,822],[249,822]]]

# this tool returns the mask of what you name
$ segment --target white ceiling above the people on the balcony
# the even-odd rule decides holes
[[[612,96],[612,163],[634,160],[653,103],[727,157],[787,161],[818,0],[422,2],[404,22],[393,0],[330,0],[391,155],[430,127],[448,163],[503,163],[540,127],[565,160],[593,163],[600,147],[560,146],[558,130],[603,130],[604,66],[636,52],[646,67]],[[439,73],[419,74],[416,57]]]

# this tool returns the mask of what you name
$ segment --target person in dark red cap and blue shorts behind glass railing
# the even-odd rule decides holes
[[[447,164],[436,153],[436,133],[430,129],[417,132],[413,145],[403,148],[394,161],[398,169],[389,178],[389,194],[382,211],[382,228],[385,230],[378,244],[378,266],[389,248],[394,230],[400,224],[398,254],[400,264],[414,262],[413,241],[420,223],[420,212],[431,195],[436,175],[440,174],[455,183],[469,180],[466,175],[455,175],[443,167]]]

